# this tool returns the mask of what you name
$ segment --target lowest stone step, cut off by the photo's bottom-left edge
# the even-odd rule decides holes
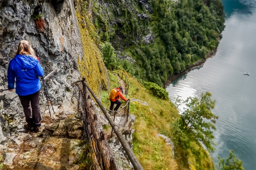
[[[44,159],[40,156],[31,156],[17,154],[14,152],[3,153],[4,166],[2,170],[19,169],[19,170],[77,170],[78,165],[61,163]]]

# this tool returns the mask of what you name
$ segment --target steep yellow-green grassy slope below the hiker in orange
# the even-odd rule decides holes
[[[115,71],[115,73],[118,73],[118,71]],[[111,88],[116,87],[118,79],[113,74],[109,73],[108,75]],[[141,105],[138,102],[132,102],[130,104],[130,114],[136,116],[133,126],[135,129],[133,134],[133,152],[143,168],[145,170],[188,169],[189,164],[186,162],[188,159],[191,167],[212,169],[213,164],[211,158],[205,151],[199,149],[197,145],[195,145],[195,149],[198,149],[198,153],[202,155],[202,165],[197,165],[193,154],[190,154],[188,158],[186,155],[182,155],[181,148],[178,145],[175,145],[175,159],[172,158],[170,146],[166,145],[163,139],[159,138],[157,134],[163,134],[172,139],[172,123],[174,119],[180,117],[178,111],[171,102],[152,95],[139,81],[126,72],[123,74],[124,80],[125,75],[129,80],[128,97],[139,99],[149,104],[149,106]],[[104,103],[109,97],[109,91],[102,91],[101,97]],[[109,103],[105,107],[108,108]],[[175,141],[173,142],[175,143]]]

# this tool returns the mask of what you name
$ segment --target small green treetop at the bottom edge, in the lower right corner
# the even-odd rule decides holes
[[[242,166],[242,161],[236,158],[233,150],[229,152],[229,157],[226,161],[224,160],[224,158],[220,158],[219,156],[218,159],[219,170],[244,170]]]

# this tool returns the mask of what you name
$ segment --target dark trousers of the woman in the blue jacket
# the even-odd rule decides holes
[[[19,96],[20,103],[25,113],[26,122],[28,123],[28,126],[31,128],[41,126],[39,94],[40,94],[40,90],[31,95]],[[30,104],[32,108],[32,114],[31,114]]]

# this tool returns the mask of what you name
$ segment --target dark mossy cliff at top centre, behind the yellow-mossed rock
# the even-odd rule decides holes
[[[93,22],[103,41],[110,39],[116,50],[154,42],[148,21],[153,9],[148,0],[97,0]]]

